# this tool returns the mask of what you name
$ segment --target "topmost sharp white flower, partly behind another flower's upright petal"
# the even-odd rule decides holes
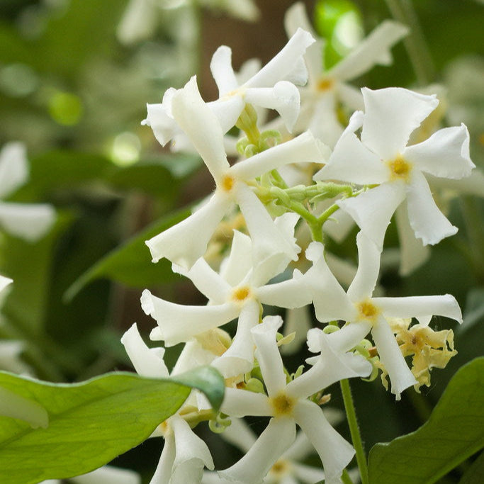
[[[306,48],[314,42],[313,36],[298,30],[283,49],[250,79],[239,84],[232,69],[232,51],[225,45],[218,48],[210,62],[219,99],[208,103],[217,116],[223,134],[235,125],[246,103],[275,109],[291,130],[299,113],[299,91],[294,84],[305,84],[308,72],[303,62]],[[176,89],[168,89],[161,104],[147,105],[147,118],[142,124],[152,128],[157,140],[166,145],[179,135],[179,120],[173,112]]]

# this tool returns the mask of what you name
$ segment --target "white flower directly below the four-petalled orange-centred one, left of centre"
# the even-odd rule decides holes
[[[276,219],[281,231],[294,230],[298,216],[286,214]],[[284,225],[288,225],[284,227]],[[221,274],[216,273],[201,258],[189,271],[181,271],[193,281],[208,305],[192,306],[170,303],[143,291],[141,305],[145,313],[158,322],[152,339],[162,339],[167,346],[186,342],[198,334],[225,325],[238,317],[237,332],[225,353],[213,361],[225,377],[250,371],[253,361],[253,344],[250,331],[259,323],[260,305],[280,308],[298,308],[311,302],[311,294],[303,282],[305,276],[295,271],[293,278],[278,283],[267,283],[280,274],[288,264],[272,258],[252,267],[252,242],[247,235],[234,231],[230,257],[225,261]]]

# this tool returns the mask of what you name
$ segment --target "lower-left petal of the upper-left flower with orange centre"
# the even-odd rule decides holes
[[[166,257],[189,269],[205,254],[210,237],[230,205],[225,193],[215,191],[210,201],[195,213],[146,241],[152,261]]]

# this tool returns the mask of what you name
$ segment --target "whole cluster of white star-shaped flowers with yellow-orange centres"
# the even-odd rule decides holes
[[[236,74],[230,48],[215,52],[210,68],[220,93],[216,101],[203,101],[193,77],[148,106],[144,123],[157,140],[196,150],[215,189],[188,218],[147,241],[152,260],[169,259],[206,296],[206,305],[179,305],[144,291],[142,309],[157,322],[152,340],[165,347],[184,344],[172,374],[212,365],[226,383],[220,414],[194,393],[159,426],[155,434],[165,444],[153,484],[295,482],[289,468],[314,483],[321,473],[281,464],[291,455],[296,426],[320,456],[325,482],[340,482],[354,449],[325,417],[325,389],[347,378],[374,378],[381,370],[400,399],[412,385],[429,385],[430,369],[455,354],[451,331],[429,327],[434,315],[462,322],[453,296],[374,292],[393,215],[401,233],[424,245],[456,232],[434,202],[427,176],[471,174],[466,127],[436,130],[415,142],[412,133],[437,108],[436,96],[396,87],[359,92],[347,84],[374,64],[390,63],[404,26],[383,23],[326,71],[322,40],[308,31],[299,4],[288,12],[286,28],[290,40],[259,72]],[[339,106],[358,109],[345,126]],[[261,125],[267,109],[279,117]],[[239,157],[230,164],[234,143],[227,132],[234,127]],[[332,215],[341,214],[360,229],[358,267],[349,278],[340,276],[342,261],[325,248]],[[220,224],[236,227],[225,234],[225,245],[216,242]],[[342,283],[349,285],[346,291]],[[311,304],[317,327],[307,331],[301,312]],[[286,324],[292,322],[291,332],[281,330],[286,336],[278,332],[283,319],[268,307],[287,309]],[[412,318],[418,324],[410,326]],[[232,321],[236,330],[229,334],[223,327]],[[300,366],[296,373],[284,367],[280,351],[293,339],[307,341],[315,354],[308,369]],[[148,348],[136,326],[123,344],[138,373],[169,374],[164,349]],[[412,356],[412,368],[406,356]],[[246,440],[240,461],[203,476],[213,460],[191,427],[210,420],[223,429],[245,416],[270,420],[257,439]]]

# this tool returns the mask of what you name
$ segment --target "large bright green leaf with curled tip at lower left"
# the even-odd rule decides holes
[[[48,415],[47,427],[35,429],[26,418],[0,416],[2,484],[69,478],[108,463],[147,439],[181,407],[192,386],[218,410],[224,383],[214,368],[198,368],[176,380],[108,373],[74,384],[0,372],[4,393],[15,393]]]

